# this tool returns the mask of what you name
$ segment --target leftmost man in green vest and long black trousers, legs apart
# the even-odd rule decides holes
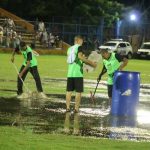
[[[37,69],[37,59],[33,53],[33,50],[28,45],[26,45],[25,42],[22,41],[20,43],[20,47],[16,48],[13,51],[11,61],[14,62],[15,53],[19,50],[21,51],[24,57],[24,62],[20,68],[18,79],[17,79],[18,98],[28,98],[28,95],[23,93],[22,87],[23,87],[23,81],[25,80],[26,75],[28,74],[29,71],[36,82],[36,87],[37,87],[37,91],[39,92],[39,97],[47,98],[47,96],[43,93],[41,79]]]

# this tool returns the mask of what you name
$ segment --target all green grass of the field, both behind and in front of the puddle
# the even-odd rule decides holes
[[[10,58],[11,54],[0,54],[0,89],[16,90],[16,71]],[[42,82],[44,78],[66,78],[66,56],[45,55],[37,59]],[[16,55],[15,63],[18,68],[22,61],[22,56]],[[126,70],[140,72],[141,82],[150,83],[149,65],[149,61],[146,60],[129,60]],[[96,80],[101,68],[102,66],[99,64],[94,72],[85,73],[85,79]],[[1,79],[4,79],[5,82],[2,82]],[[106,80],[106,76],[102,79]],[[31,90],[35,90],[35,84],[30,74],[25,83]],[[65,94],[65,87],[65,82],[61,85],[58,82],[44,82],[43,84],[44,91],[53,94]],[[85,93],[87,90],[89,88],[85,89]],[[0,91],[0,96],[10,96],[11,94],[14,93]],[[39,135],[15,127],[0,127],[0,150],[149,150],[149,147],[150,143],[145,142],[95,139],[61,134]]]

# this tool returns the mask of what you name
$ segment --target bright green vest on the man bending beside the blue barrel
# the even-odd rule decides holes
[[[115,53],[111,53],[111,56],[108,60],[103,59],[104,66],[108,74],[108,85],[113,85],[113,76],[116,70],[120,67],[120,62],[115,57]]]

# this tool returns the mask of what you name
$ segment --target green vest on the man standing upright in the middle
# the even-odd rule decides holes
[[[67,55],[69,55],[72,50],[74,50],[76,55],[76,60],[73,63],[68,64],[68,78],[83,77],[83,62],[78,58],[79,47],[80,45],[75,44],[68,48]]]

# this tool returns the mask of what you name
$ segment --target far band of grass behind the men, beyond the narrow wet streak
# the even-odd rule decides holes
[[[11,54],[0,54],[0,78],[16,79],[16,72],[10,62]],[[41,78],[66,78],[67,75],[67,63],[66,56],[56,55],[42,55],[37,57],[39,63],[39,72]],[[20,68],[23,61],[21,55],[16,55],[15,63]],[[141,82],[150,83],[150,61],[149,60],[129,60],[128,66],[125,68],[127,71],[136,71],[141,73]],[[102,68],[102,64],[99,64],[96,71],[92,73],[84,73],[86,79],[96,80]],[[104,78],[105,79],[105,78]]]

